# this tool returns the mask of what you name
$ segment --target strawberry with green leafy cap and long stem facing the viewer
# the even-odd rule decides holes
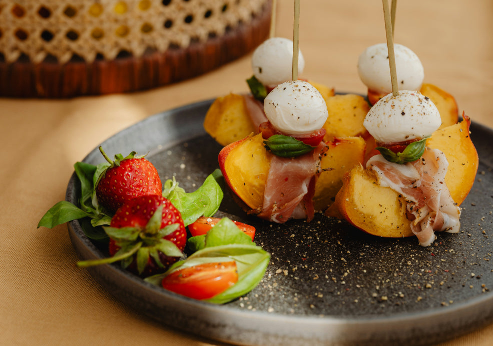
[[[165,197],[133,198],[116,211],[110,227],[110,258],[78,262],[86,267],[122,261],[122,266],[142,276],[165,271],[183,256],[187,232],[180,212]]]

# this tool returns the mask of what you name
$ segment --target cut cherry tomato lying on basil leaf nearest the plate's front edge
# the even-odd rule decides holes
[[[173,271],[165,276],[165,289],[194,299],[208,299],[238,282],[236,262],[204,263]]]

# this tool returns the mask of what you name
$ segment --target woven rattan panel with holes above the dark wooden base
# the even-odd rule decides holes
[[[0,53],[60,63],[187,47],[248,23],[266,0],[0,0]],[[99,54],[99,55],[98,55]]]

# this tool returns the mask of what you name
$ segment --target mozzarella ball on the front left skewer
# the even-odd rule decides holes
[[[290,80],[277,85],[264,100],[270,123],[286,134],[299,135],[322,128],[327,120],[327,104],[310,83]]]

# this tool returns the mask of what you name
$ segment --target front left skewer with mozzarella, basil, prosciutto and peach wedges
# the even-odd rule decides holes
[[[264,109],[268,121],[259,126],[261,133],[221,150],[221,171],[249,213],[279,223],[311,220],[335,197],[344,171],[362,162],[364,140],[323,141],[325,100],[302,80],[277,85]]]

